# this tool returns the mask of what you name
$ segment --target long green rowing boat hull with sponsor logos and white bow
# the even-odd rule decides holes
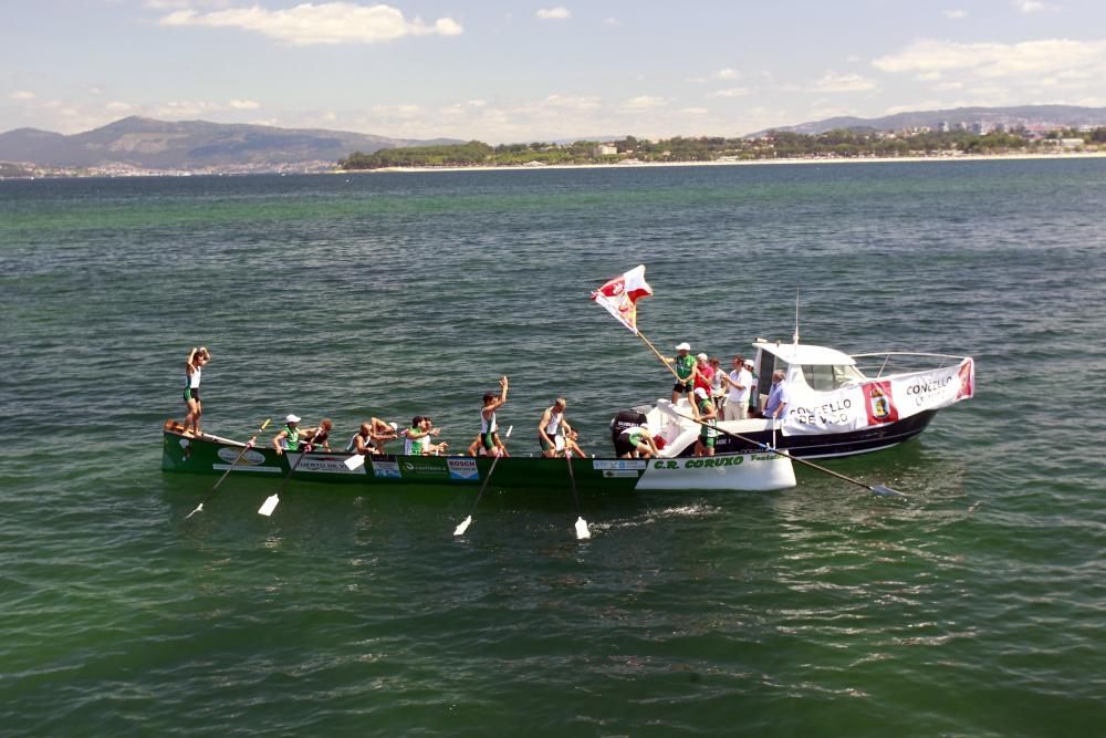
[[[469,456],[366,457],[351,469],[348,454],[313,451],[278,455],[272,448],[246,450],[240,443],[204,436],[185,437],[166,424],[161,468],[166,471],[252,475],[303,481],[338,482],[387,488],[446,486],[478,489],[491,472],[493,459]],[[241,460],[236,459],[241,454]],[[358,459],[355,459],[355,461]],[[292,471],[292,467],[295,470]],[[634,493],[643,490],[765,491],[795,486],[791,460],[774,454],[726,454],[703,458],[574,458],[572,474],[581,491]],[[495,465],[495,486],[509,489],[565,489],[572,484],[563,458],[503,457]]]

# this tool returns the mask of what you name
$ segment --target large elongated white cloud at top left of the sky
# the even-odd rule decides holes
[[[439,18],[427,24],[418,17],[408,21],[403,11],[390,6],[361,6],[354,2],[309,2],[288,10],[267,10],[260,6],[208,13],[178,10],[164,17],[159,23],[168,27],[234,28],[301,46],[379,43],[405,35],[457,35],[463,32],[449,18]]]

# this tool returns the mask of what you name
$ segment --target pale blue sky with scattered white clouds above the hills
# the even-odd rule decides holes
[[[1052,103],[1106,106],[1103,0],[0,0],[0,132],[499,144]]]

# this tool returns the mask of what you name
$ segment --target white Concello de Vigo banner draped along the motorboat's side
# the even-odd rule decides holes
[[[844,433],[895,423],[969,399],[974,389],[975,365],[971,357],[958,366],[869,380],[833,392],[802,393],[792,387],[783,435]]]

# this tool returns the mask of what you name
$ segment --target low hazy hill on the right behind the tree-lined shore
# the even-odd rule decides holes
[[[1016,107],[957,107],[943,111],[916,111],[910,113],[897,113],[885,115],[879,118],[859,118],[853,116],[841,116],[801,123],[793,126],[775,126],[765,131],[758,131],[749,134],[749,137],[762,136],[768,131],[787,131],[791,133],[818,134],[835,128],[849,128],[854,131],[900,131],[902,128],[917,128],[928,126],[936,128],[941,123],[956,125],[958,123],[972,124],[984,123],[995,125],[998,123],[1008,126],[1013,125],[1055,125],[1055,126],[1083,126],[1083,125],[1106,125],[1106,107],[1078,107],[1075,105],[1020,105]]]

